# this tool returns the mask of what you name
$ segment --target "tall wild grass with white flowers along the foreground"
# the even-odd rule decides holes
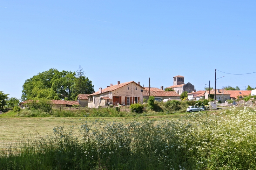
[[[178,121],[97,120],[53,130],[54,137],[6,148],[0,169],[256,169],[252,106]]]

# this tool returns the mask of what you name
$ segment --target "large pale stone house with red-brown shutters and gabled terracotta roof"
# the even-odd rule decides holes
[[[88,107],[97,108],[107,105],[130,105],[142,102],[144,87],[134,81],[110,84],[107,88],[99,88],[99,91],[89,94]]]

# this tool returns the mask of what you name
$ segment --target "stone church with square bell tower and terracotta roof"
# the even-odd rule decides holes
[[[195,86],[191,83],[184,83],[184,76],[174,76],[173,77],[173,86],[169,86],[167,88],[172,88],[176,93],[181,94],[184,91],[187,91],[188,93],[191,93]]]

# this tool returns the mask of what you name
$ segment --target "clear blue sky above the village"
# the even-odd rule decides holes
[[[95,85],[151,87],[185,76],[196,90],[215,69],[256,71],[256,1],[0,0],[0,91],[20,98],[26,79],[50,68]],[[256,86],[256,73],[217,72],[217,88]]]

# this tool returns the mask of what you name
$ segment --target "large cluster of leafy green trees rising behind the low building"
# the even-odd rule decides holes
[[[81,68],[80,68],[81,69]],[[92,82],[83,75],[76,77],[72,71],[49,69],[25,81],[22,86],[23,101],[33,98],[74,100],[79,92],[92,93]],[[81,91],[78,91],[78,87]]]

